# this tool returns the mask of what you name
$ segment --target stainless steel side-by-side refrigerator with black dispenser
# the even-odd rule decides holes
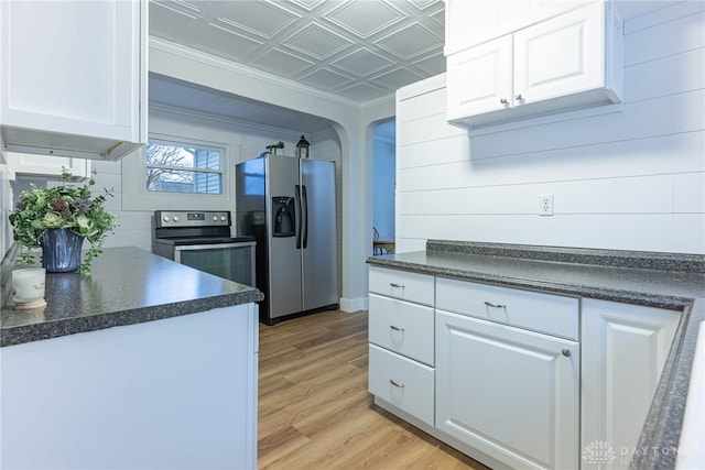
[[[236,167],[236,228],[257,240],[260,319],[338,306],[335,163],[264,154]]]

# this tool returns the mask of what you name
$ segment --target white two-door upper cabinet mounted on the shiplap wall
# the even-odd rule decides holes
[[[447,119],[473,128],[619,102],[621,48],[621,20],[604,1],[470,44],[447,56]]]

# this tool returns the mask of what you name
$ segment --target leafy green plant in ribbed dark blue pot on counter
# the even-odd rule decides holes
[[[62,168],[64,184],[41,189],[32,185],[31,190],[20,194],[20,201],[10,215],[14,240],[20,244],[18,261],[34,263],[33,249],[42,249],[42,265],[47,272],[78,271],[89,274],[93,260],[102,252],[108,232],[115,232],[117,218],[106,211],[105,201],[112,192],[95,196],[88,184],[76,186],[69,183],[70,173]],[[90,248],[80,262],[80,248],[88,240]]]

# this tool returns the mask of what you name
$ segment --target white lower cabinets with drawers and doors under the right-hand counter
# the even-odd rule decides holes
[[[370,292],[378,405],[496,469],[629,466],[680,311],[378,266]]]

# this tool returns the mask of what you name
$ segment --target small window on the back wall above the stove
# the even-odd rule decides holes
[[[174,142],[147,145],[147,190],[223,194],[223,149]]]

